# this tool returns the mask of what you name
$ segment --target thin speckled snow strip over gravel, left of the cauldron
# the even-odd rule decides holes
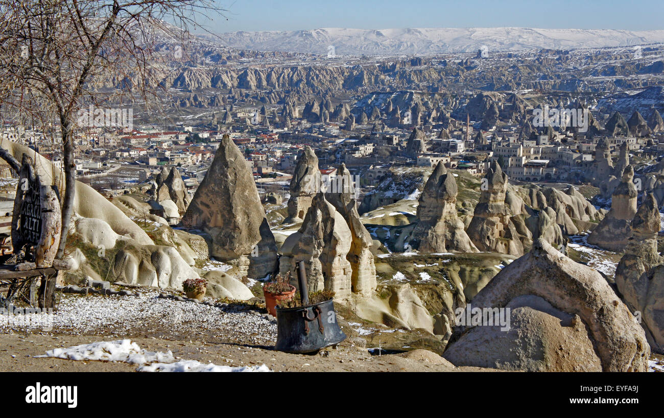
[[[266,344],[276,341],[276,322],[248,311],[224,310],[202,303],[180,302],[159,298],[159,292],[147,291],[138,296],[82,297],[64,293],[58,301],[58,311],[49,314],[48,322],[54,332],[69,334],[127,335],[127,330],[159,334],[208,333],[218,338],[242,340],[247,344]],[[28,314],[26,316],[45,316]],[[44,321],[26,328],[42,328]],[[13,326],[0,321],[0,331]],[[18,329],[18,328],[17,328]],[[48,328],[46,331],[50,331]]]

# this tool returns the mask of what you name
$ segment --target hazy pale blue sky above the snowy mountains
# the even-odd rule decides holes
[[[217,0],[214,32],[321,27],[535,27],[664,29],[664,0]]]

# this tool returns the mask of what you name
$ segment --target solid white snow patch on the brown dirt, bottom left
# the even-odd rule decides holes
[[[138,372],[270,372],[262,366],[230,367],[203,364],[197,360],[175,362],[171,350],[152,352],[143,350],[131,340],[100,341],[68,348],[54,348],[36,358],[63,358],[64,360],[94,360],[137,364]],[[145,365],[145,366],[144,366]]]

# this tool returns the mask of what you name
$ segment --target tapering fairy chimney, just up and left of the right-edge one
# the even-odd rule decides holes
[[[622,180],[611,200],[611,210],[588,236],[588,243],[611,251],[623,251],[631,237],[630,224],[636,214],[637,190],[632,182],[634,171],[625,168]]]

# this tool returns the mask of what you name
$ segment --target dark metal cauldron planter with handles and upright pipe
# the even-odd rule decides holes
[[[304,263],[298,263],[301,307],[277,307],[277,344],[275,349],[287,353],[309,353],[339,344],[346,335],[339,328],[332,299],[313,305],[309,302]]]

